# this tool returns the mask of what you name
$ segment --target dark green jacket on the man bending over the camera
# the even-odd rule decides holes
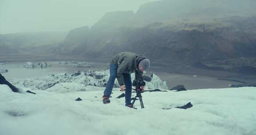
[[[110,64],[118,66],[116,78],[120,86],[124,84],[123,73],[135,72],[135,78],[142,80],[143,71],[139,71],[138,65],[143,59],[146,57],[132,52],[121,52],[112,57]]]

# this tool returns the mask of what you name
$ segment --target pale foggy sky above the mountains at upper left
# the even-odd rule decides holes
[[[92,26],[106,12],[136,12],[151,1],[156,0],[0,0],[0,34]]]

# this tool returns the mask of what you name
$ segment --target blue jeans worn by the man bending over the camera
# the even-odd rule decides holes
[[[106,89],[104,90],[104,95],[110,96],[115,79],[116,79],[116,73],[117,73],[117,66],[116,64],[110,64],[109,65],[109,71],[110,71],[110,76],[108,79],[108,83],[106,86]],[[125,105],[131,104],[131,97],[132,97],[132,79],[131,79],[131,74],[129,73],[123,73],[124,75],[124,85],[126,87],[125,89]]]

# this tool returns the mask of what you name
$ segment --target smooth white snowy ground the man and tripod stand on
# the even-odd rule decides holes
[[[102,103],[104,87],[85,89],[33,95],[0,85],[0,135],[256,135],[256,87],[144,92],[137,110],[116,99],[119,88],[110,104]],[[174,108],[188,102],[192,108]]]

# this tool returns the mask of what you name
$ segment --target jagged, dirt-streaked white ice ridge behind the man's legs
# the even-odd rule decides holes
[[[99,77],[101,76],[101,77]],[[99,79],[100,78],[100,79]],[[74,74],[46,75],[43,77],[33,77],[27,79],[10,79],[9,82],[17,87],[28,87],[32,90],[41,89],[46,91],[91,91],[84,89],[86,86],[104,87],[109,78],[109,70],[102,71],[77,71]],[[131,75],[132,80],[135,74]],[[71,84],[72,83],[72,84]],[[56,86],[55,86],[56,85]],[[74,86],[76,86],[74,88]],[[117,79],[115,87],[119,87]],[[167,89],[166,82],[162,81],[157,75],[153,74],[151,82],[146,83],[146,88]]]

